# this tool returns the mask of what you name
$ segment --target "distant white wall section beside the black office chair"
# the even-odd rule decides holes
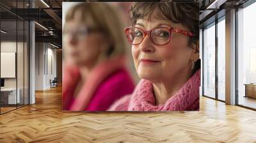
[[[50,79],[57,75],[56,49],[49,43],[36,43],[35,50],[35,90],[49,89]]]

